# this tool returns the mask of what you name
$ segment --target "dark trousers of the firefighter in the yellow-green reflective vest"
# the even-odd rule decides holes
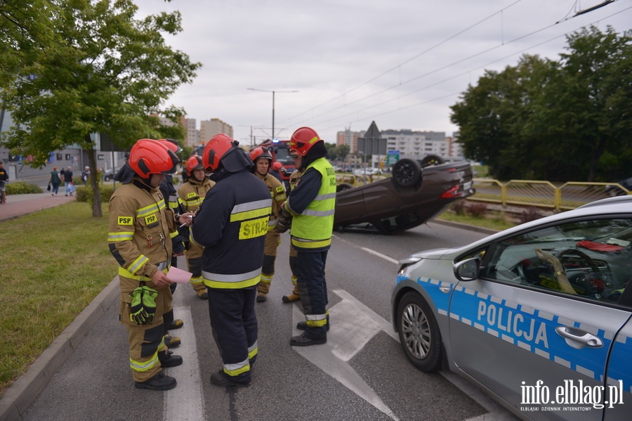
[[[296,285],[307,323],[305,334],[312,339],[327,336],[329,300],[327,299],[327,281],[324,277],[326,261],[327,250],[324,252],[297,250],[296,253],[296,275],[298,276]]]

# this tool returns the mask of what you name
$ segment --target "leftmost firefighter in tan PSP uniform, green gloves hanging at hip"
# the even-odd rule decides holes
[[[110,198],[110,252],[119,266],[119,320],[129,332],[129,365],[138,389],[169,390],[176,379],[162,368],[182,364],[164,346],[163,314],[171,310],[166,276],[173,254],[170,233],[188,224],[191,214],[173,214],[158,186],[180,162],[173,151],[152,139],[131,148],[122,186]]]

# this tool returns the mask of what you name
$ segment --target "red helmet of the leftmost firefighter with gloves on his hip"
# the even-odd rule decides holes
[[[159,141],[140,139],[129,151],[128,164],[143,179],[151,174],[172,174],[180,162],[175,153]]]

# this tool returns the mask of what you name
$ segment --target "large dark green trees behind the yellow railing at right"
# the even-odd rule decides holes
[[[631,33],[567,37],[560,61],[522,56],[452,105],[466,157],[499,179],[623,179],[632,164]],[[583,176],[581,176],[583,174]]]

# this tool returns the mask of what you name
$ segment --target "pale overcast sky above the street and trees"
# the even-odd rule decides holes
[[[565,34],[632,27],[632,0],[136,0],[138,18],[178,10],[173,48],[202,63],[168,104],[218,118],[250,143],[301,126],[334,143],[350,127],[458,131],[450,105],[485,70],[523,54],[557,60]],[[556,22],[559,22],[556,24]],[[263,91],[250,91],[248,88]],[[285,91],[285,92],[282,92]],[[298,91],[290,93],[287,91]],[[205,139],[203,139],[205,140]],[[208,139],[206,139],[208,140]]]

